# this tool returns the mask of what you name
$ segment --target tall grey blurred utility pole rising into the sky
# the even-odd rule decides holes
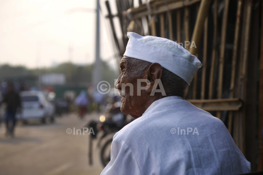
[[[99,26],[99,0],[96,0],[97,7],[96,7],[96,39],[95,39],[95,62],[94,62],[94,69],[93,69],[93,79],[92,83],[94,89],[97,88],[97,84],[102,80],[102,67],[101,67],[101,60],[100,60],[100,26]]]

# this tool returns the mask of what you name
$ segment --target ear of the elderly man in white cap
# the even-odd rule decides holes
[[[152,63],[147,70],[147,79],[150,81],[150,88],[146,89],[147,93],[152,91],[156,79],[162,78],[163,68],[159,63]],[[149,86],[149,85],[148,85]]]

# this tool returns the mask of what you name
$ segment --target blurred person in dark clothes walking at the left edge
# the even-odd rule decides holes
[[[6,136],[14,137],[14,129],[16,125],[16,113],[21,108],[19,94],[15,92],[14,85],[10,84],[7,93],[4,95],[2,103],[6,104],[5,124]]]

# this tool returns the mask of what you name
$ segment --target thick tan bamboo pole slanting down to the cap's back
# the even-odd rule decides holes
[[[201,39],[200,34],[203,32],[205,19],[207,17],[208,10],[210,7],[210,2],[211,2],[211,0],[202,0],[201,1],[200,7],[198,10],[198,14],[197,14],[197,18],[196,18],[196,22],[194,25],[194,31],[193,31],[192,39],[191,39],[191,43],[194,41],[197,48],[195,48],[195,47],[190,48],[189,52],[192,55],[195,55],[197,53],[199,41]]]

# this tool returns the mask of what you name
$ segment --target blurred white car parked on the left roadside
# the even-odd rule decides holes
[[[55,106],[46,99],[41,91],[20,92],[21,114],[19,119],[26,123],[30,119],[40,119],[45,123],[47,118],[54,122]]]

